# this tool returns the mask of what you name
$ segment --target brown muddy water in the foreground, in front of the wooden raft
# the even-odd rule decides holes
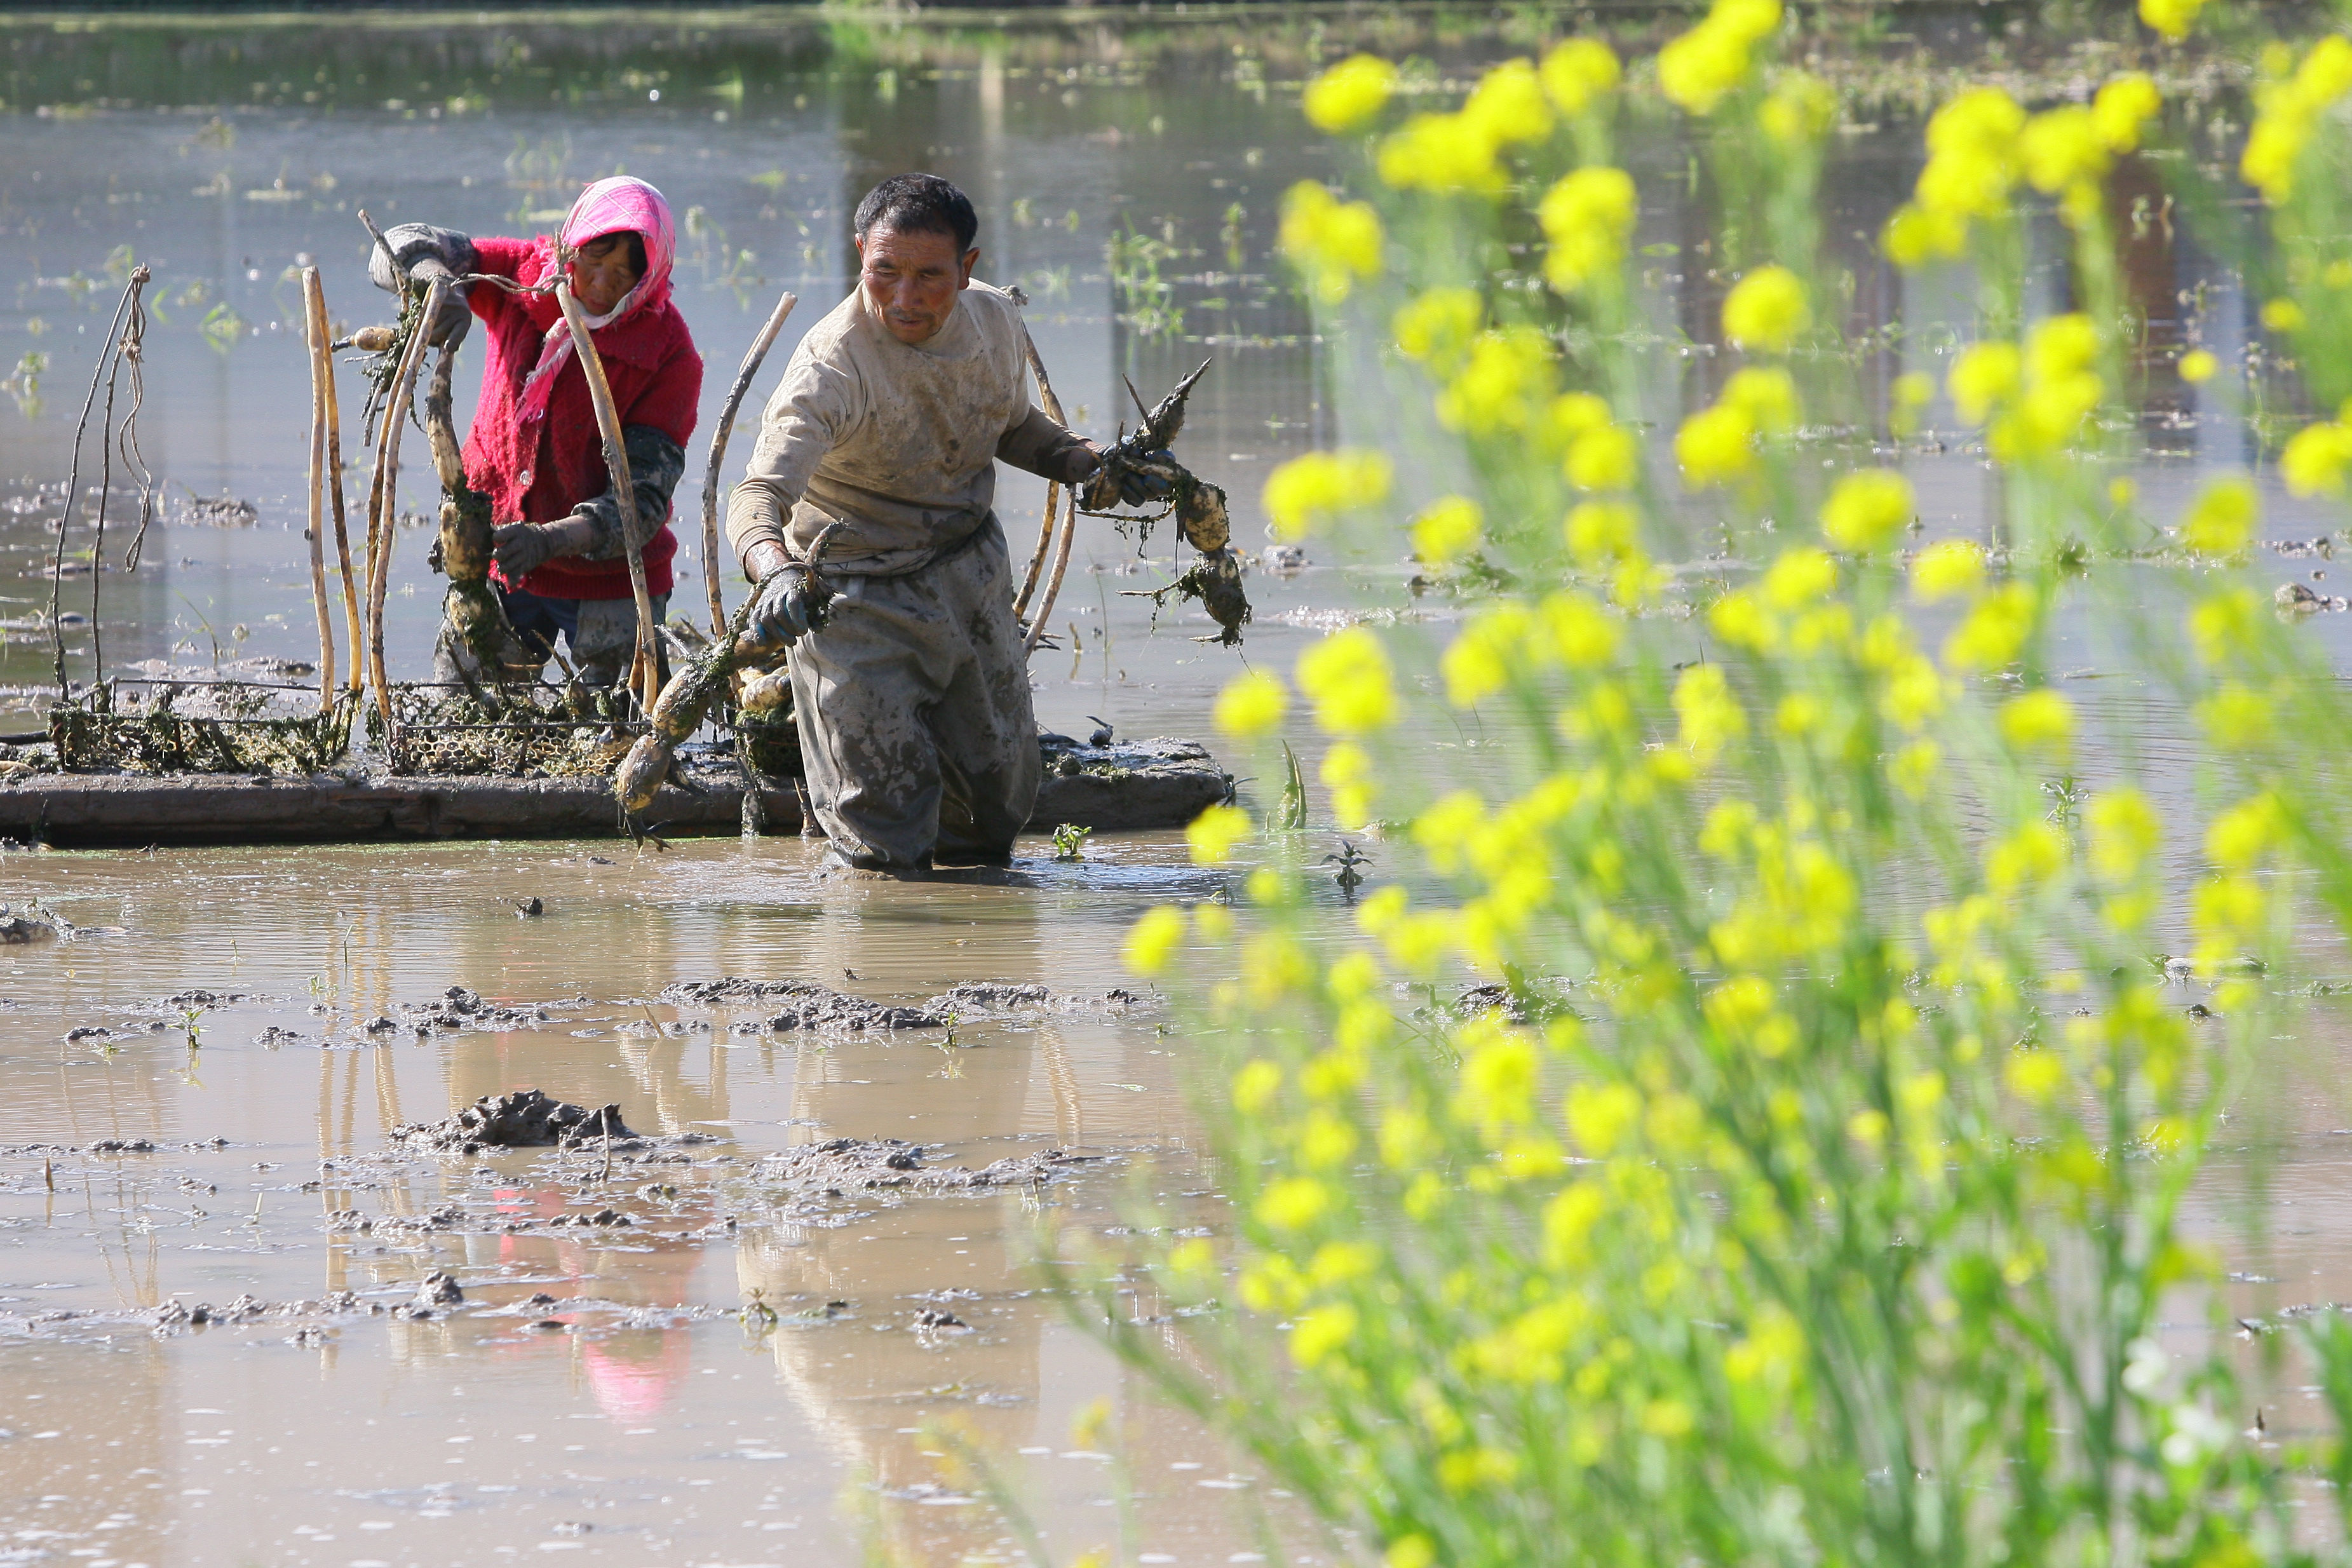
[[[1136,1399],[1025,1267],[1049,1229],[1047,1255],[1115,1251],[1138,1194],[1209,1218],[1178,1041],[1112,961],[1148,900],[1209,891],[1169,860],[1138,842],[910,891],[814,879],[795,839],[12,856],[14,891],[122,929],[0,961],[7,1140],[82,1150],[0,1161],[12,1561],[847,1561],[837,1505],[863,1488],[924,1561],[960,1561],[1002,1526],[927,1458],[934,1420],[1018,1465],[1070,1554],[1117,1537],[1117,1497],[1138,1549],[1249,1549],[1230,1455]],[[870,1034],[659,1001],[724,973],[1051,999]],[[546,1020],[416,1032],[402,1004],[449,987]],[[609,1173],[595,1152],[393,1154],[393,1126],[524,1084],[689,1140]],[[1049,1185],[833,1199],[757,1166],[835,1135],[946,1168],[1084,1159]],[[633,1222],[553,1225],[604,1211]],[[435,1269],[463,1302],[386,1312]],[[739,1319],[750,1291],[781,1324]],[[268,1307],[169,1312],[240,1295]],[[1096,1399],[1124,1476],[1108,1436],[1073,1439]]]

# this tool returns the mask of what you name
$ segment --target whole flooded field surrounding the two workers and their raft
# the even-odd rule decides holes
[[[1863,99],[1875,118],[1842,127],[1823,228],[1849,336],[1879,346],[1863,374],[1879,407],[1905,371],[1940,383],[1973,331],[1964,289],[1875,256],[1919,174],[1938,71],[2070,68],[2032,40],[2002,54],[2009,35],[1978,12],[1922,9],[1915,33],[1853,45],[1884,82]],[[1232,496],[1244,555],[1268,543],[1265,475],[1308,449],[1381,447],[1406,468],[1399,489],[1442,494],[1442,458],[1416,463],[1435,442],[1367,416],[1359,381],[1381,367],[1317,339],[1275,254],[1282,190],[1336,172],[1298,82],[1359,45],[1470,78],[1548,26],[1338,7],[922,26],[0,19],[0,741],[40,729],[56,642],[73,682],[315,675],[296,270],[322,268],[339,324],[381,320],[360,207],[527,235],[586,179],[652,179],[684,216],[708,435],[776,294],[802,303],[760,393],[847,292],[858,193],[931,169],[978,205],[978,275],[1030,296],[1082,433],[1108,440],[1131,414],[1124,378],[1150,400],[1214,360],[1178,454]],[[2185,155],[2234,158],[2239,132],[2213,113]],[[1653,129],[1625,162],[1653,374],[1668,402],[1700,407],[1722,381],[1722,284],[1698,160]],[[2171,517],[2256,442],[2239,390],[2180,383],[2157,350],[2244,362],[2256,306],[2244,259],[2201,244],[2159,188],[2126,193],[2124,214],[2152,334],[2138,484]],[[158,517],[127,569],[139,501],[118,473],[103,555],[78,531],[52,581],[80,404],[134,263],[155,273],[139,442]],[[2063,303],[2063,268],[2037,280]],[[461,421],[477,364],[461,360]],[[677,609],[703,595],[687,567],[701,456],[699,437]],[[1985,531],[1999,477],[1940,393],[1900,461],[1924,541]],[[388,654],[416,679],[440,604],[419,458],[402,484],[416,527],[393,562]],[[2333,517],[2263,484],[2265,588],[2328,597],[2333,545],[2307,541]],[[1004,473],[1016,555],[1040,501]],[[1705,543],[1675,567],[1719,571]],[[1080,536],[1063,646],[1033,665],[1047,726],[1209,738],[1244,663],[1289,670],[1367,618],[1402,628],[1406,682],[1439,686],[1458,609],[1402,531],[1388,552],[1315,545],[1256,569],[1240,651],[1202,642],[1197,609],[1138,597],[1178,571],[1169,536],[1150,552]],[[2352,656],[2343,614],[2303,635],[2338,670]],[[2187,724],[2131,661],[2063,628],[2079,708],[2152,792],[2187,799]],[[1503,771],[1477,729],[1414,741],[1430,778]],[[1298,745],[1312,778],[1303,724]],[[2079,783],[2112,766],[2086,755]],[[1242,785],[1258,809],[1277,792]],[[1338,846],[1319,802],[1310,830],[1308,860]],[[1054,1293],[1127,1255],[1138,1227],[1225,1225],[1192,1098],[1200,1030],[1122,969],[1120,943],[1145,907],[1225,898],[1240,872],[1192,867],[1181,835],[1098,835],[1075,863],[1033,839],[1009,875],[917,886],[826,879],[816,849],[0,851],[0,905],[40,900],[75,929],[0,947],[0,1563],[835,1563],[877,1540],[924,1563],[1021,1561],[941,1425],[997,1455],[1056,1561],[1247,1563],[1275,1537],[1289,1561],[1350,1561],[1355,1544],[1303,1526]],[[2190,877],[2180,856],[2169,891]],[[1322,879],[1315,898],[1341,912]],[[2303,957],[2352,980],[2333,940]],[[816,1006],[793,983],[873,1006]],[[2192,1194],[2249,1312],[2352,1295],[2343,1044],[2296,1048],[2307,1074],[2274,1086],[2274,1147],[2216,1161]],[[642,1138],[442,1154],[395,1135],[522,1088],[616,1105]],[[2258,1185],[2267,1239],[2249,1246],[2239,1199]],[[1176,1321],[1148,1284],[1122,1300]]]

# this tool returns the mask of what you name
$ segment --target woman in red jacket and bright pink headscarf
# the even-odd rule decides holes
[[[393,259],[402,268],[433,259],[459,277],[508,277],[532,289],[555,277],[560,252],[572,254],[572,294],[588,315],[621,414],[637,527],[661,524],[644,543],[647,590],[661,621],[677,555],[670,491],[687,468],[703,390],[703,360],[670,303],[677,254],[670,205],[642,179],[616,176],[581,190],[555,240],[473,240],[428,223],[402,223],[386,240],[390,256],[379,244],[367,263],[379,289],[397,287]],[[461,294],[489,329],[482,400],[466,435],[466,480],[489,496],[499,520],[492,581],[506,618],[539,661],[560,632],[583,679],[616,684],[628,677],[637,644],[637,607],[621,505],[572,331],[555,294],[517,294],[494,282],[461,284]],[[433,322],[433,341],[456,322],[463,317]],[[449,658],[445,639],[435,679],[459,677],[440,668]]]

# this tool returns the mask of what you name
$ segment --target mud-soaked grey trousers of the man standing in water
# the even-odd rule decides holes
[[[995,515],[906,576],[826,571],[828,621],[793,644],[809,802],[858,867],[1002,863],[1044,771]]]

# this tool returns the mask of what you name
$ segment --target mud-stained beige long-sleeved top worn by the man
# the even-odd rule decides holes
[[[936,336],[901,343],[854,292],[809,329],[767,400],[760,444],[727,503],[727,543],[736,559],[760,541],[802,559],[840,520],[828,569],[898,576],[981,527],[997,458],[1065,480],[1082,449],[1030,404],[1009,294],[974,282]]]

